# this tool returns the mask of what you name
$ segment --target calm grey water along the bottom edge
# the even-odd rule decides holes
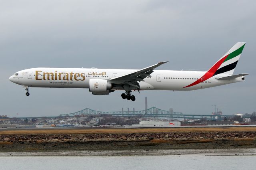
[[[0,156],[1,170],[255,170],[256,156]]]

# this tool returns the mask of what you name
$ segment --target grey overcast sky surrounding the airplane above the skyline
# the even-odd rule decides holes
[[[255,0],[0,0],[0,115],[56,116],[86,107],[158,107],[184,114],[225,115],[256,111]],[[246,42],[235,70],[246,81],[196,91],[141,91],[136,101],[121,91],[106,96],[88,89],[30,88],[9,81],[33,67],[205,71],[236,42]],[[131,110],[130,109],[130,110]]]

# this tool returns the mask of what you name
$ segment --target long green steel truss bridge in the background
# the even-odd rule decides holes
[[[194,114],[182,114],[181,112],[169,112],[156,107],[151,107],[142,111],[113,111],[102,112],[95,111],[89,108],[83,109],[69,114],[61,114],[60,117],[65,116],[77,116],[77,115],[112,115],[116,117],[148,117],[148,118],[180,118],[180,119],[202,119],[206,117],[208,120],[216,120],[216,115],[194,115]],[[218,115],[217,117],[234,117],[234,115]]]

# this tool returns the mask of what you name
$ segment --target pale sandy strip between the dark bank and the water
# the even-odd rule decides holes
[[[256,149],[165,149],[165,150],[102,150],[57,152],[0,152],[0,156],[158,156],[205,154],[206,156],[256,156]]]

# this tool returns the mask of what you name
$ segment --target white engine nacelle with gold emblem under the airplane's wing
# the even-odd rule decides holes
[[[104,79],[90,79],[89,80],[89,91],[93,95],[108,95],[111,89],[111,83]]]

